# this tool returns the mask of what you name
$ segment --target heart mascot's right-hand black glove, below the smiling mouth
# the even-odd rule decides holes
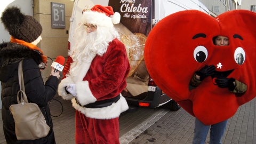
[[[236,87],[234,84],[235,81],[236,81],[235,78],[226,78],[226,77],[215,79],[215,83],[219,87],[222,87],[222,88],[228,87],[228,90],[230,90],[230,91],[234,91],[234,89]]]

